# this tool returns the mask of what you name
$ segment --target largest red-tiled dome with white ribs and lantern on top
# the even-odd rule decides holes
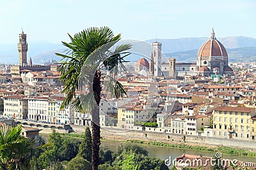
[[[205,41],[198,51],[197,57],[223,56],[228,57],[227,50],[215,37],[215,32],[212,29],[211,37]]]

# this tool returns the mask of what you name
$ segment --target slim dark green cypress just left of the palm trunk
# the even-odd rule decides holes
[[[83,157],[83,159],[92,161],[92,134],[89,127],[86,127],[84,132],[84,139],[82,143],[79,145],[79,156]]]

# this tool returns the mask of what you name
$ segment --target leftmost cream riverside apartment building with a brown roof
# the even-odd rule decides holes
[[[22,95],[4,97],[4,115],[15,119],[28,117],[28,99]]]

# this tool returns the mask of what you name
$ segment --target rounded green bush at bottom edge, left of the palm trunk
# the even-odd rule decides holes
[[[82,157],[74,157],[67,164],[67,170],[90,170],[92,166],[88,160],[83,159]]]

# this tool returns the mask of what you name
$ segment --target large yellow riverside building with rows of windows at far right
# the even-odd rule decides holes
[[[212,114],[214,137],[242,140],[255,138],[255,134],[252,136],[255,108],[219,106]]]

